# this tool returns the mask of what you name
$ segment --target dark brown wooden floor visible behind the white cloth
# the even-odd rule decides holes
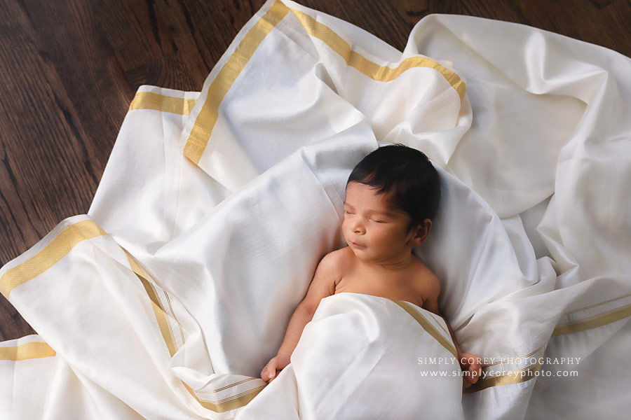
[[[140,85],[201,90],[264,1],[0,0],[0,263],[85,214]],[[631,56],[630,0],[301,0],[402,50],[429,13],[519,22]],[[571,6],[571,7],[570,7]],[[0,296],[0,341],[34,331]]]

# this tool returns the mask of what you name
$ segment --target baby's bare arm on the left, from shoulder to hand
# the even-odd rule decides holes
[[[261,379],[267,383],[271,382],[280,370],[289,365],[290,358],[298,345],[302,331],[305,325],[313,318],[320,300],[335,293],[336,274],[339,272],[337,258],[337,254],[334,252],[328,253],[318,263],[306,297],[298,304],[289,325],[287,325],[283,344],[280,344],[280,349],[278,349],[276,356],[269,360],[269,363],[261,371]]]

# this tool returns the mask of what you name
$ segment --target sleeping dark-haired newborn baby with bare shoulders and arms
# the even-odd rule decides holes
[[[324,256],[306,297],[287,326],[278,354],[261,379],[272,381],[290,363],[305,325],[324,297],[352,292],[405,300],[442,316],[440,281],[412,248],[428,238],[440,201],[440,178],[426,155],[402,144],[377,148],[353,168],[346,182],[344,248]],[[445,319],[445,318],[443,318]],[[468,388],[482,374],[480,359],[463,353],[452,335]]]

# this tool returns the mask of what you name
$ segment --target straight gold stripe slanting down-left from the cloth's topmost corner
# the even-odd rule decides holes
[[[208,144],[208,139],[210,139],[212,129],[217,123],[219,105],[222,103],[226,93],[230,90],[237,76],[243,71],[245,64],[250,60],[259,44],[276,27],[278,22],[285,18],[288,12],[289,9],[282,2],[276,1],[276,3],[273,3],[265,15],[247,32],[236,50],[226,61],[226,64],[219,71],[215,80],[212,80],[208,87],[208,97],[206,97],[189,138],[186,140],[186,146],[184,146],[184,156],[186,158],[189,158],[196,164],[199,162]]]

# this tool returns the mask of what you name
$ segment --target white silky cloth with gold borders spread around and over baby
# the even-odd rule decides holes
[[[419,400],[388,395],[437,391],[423,407],[457,416],[455,377],[419,376],[419,358],[445,348],[379,297],[328,297],[292,363],[269,386],[258,377],[318,261],[344,246],[348,174],[396,141],[442,180],[414,252],[440,278],[461,347],[485,358],[463,416],[620,416],[631,409],[630,75],[627,57],[522,25],[430,15],[399,52],[268,1],[201,92],[140,87],[88,215],[0,269],[1,293],[39,333],[0,343],[0,414],[406,418],[394,413]],[[318,371],[353,356],[351,332],[350,352],[316,346],[354,322],[400,348]]]

